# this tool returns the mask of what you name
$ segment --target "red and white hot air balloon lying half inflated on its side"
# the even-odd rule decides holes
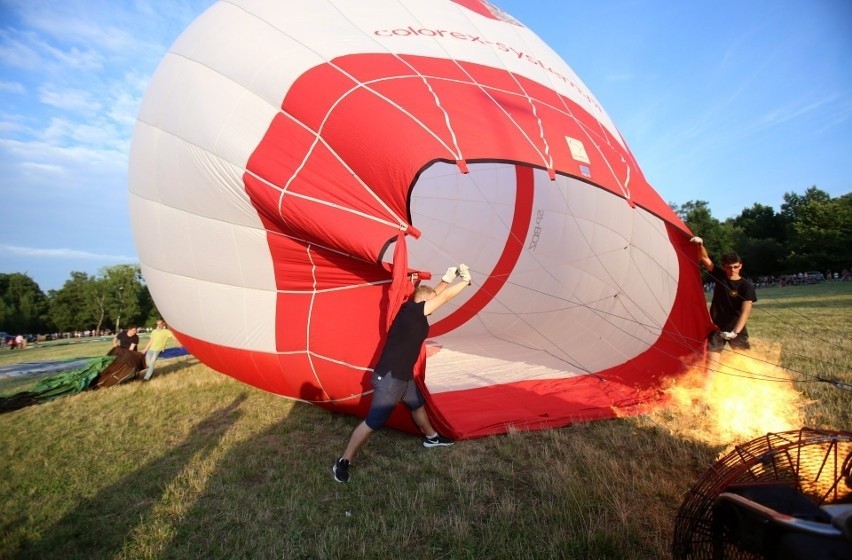
[[[418,366],[451,437],[634,409],[711,328],[686,226],[571,68],[484,0],[214,4],[150,82],[129,183],[181,343],[333,411],[365,415],[412,282],[462,261],[474,285]]]

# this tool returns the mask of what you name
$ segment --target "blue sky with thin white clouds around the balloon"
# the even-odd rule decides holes
[[[0,272],[47,292],[138,262],[139,103],[212,3],[0,0]],[[724,220],[811,186],[852,190],[852,1],[492,3],[574,69],[667,202]]]

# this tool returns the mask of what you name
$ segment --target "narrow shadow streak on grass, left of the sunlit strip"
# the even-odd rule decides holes
[[[163,498],[169,484],[197,455],[209,454],[239,420],[238,395],[199,422],[167,453],[139,466],[94,496],[84,498],[46,529],[37,542],[24,543],[15,558],[110,558],[118,554],[133,530]]]

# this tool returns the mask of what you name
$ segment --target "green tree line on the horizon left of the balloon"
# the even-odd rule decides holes
[[[10,334],[116,332],[157,317],[139,265],[108,266],[94,275],[72,272],[47,294],[26,274],[0,273],[0,331]]]

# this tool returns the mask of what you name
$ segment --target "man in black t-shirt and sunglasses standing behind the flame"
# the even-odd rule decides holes
[[[740,275],[743,263],[739,255],[734,252],[724,254],[720,269],[713,264],[700,237],[693,237],[690,241],[698,245],[699,260],[715,283],[713,299],[710,302],[710,318],[718,330],[707,338],[707,352],[708,359],[718,363],[726,342],[731,348],[738,350],[751,347],[746,323],[752,306],[757,301],[757,293],[751,281]]]

